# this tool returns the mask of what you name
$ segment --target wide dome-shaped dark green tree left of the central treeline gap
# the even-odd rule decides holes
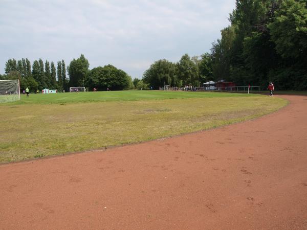
[[[98,90],[123,90],[129,87],[128,75],[113,65],[93,68],[86,79],[86,86]]]

